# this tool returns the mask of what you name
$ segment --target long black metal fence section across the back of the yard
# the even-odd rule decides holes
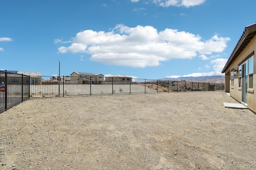
[[[60,81],[59,81],[60,80]],[[30,97],[58,97],[93,94],[194,92],[224,90],[223,83],[164,81],[109,77],[30,77]]]

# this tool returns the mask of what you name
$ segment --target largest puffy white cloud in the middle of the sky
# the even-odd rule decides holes
[[[110,32],[85,30],[72,38],[69,47],[58,53],[88,53],[91,61],[132,67],[158,66],[170,59],[207,59],[206,55],[222,52],[229,38],[214,35],[205,42],[199,35],[152,26],[127,27],[116,25]],[[56,42],[60,42],[56,39]]]

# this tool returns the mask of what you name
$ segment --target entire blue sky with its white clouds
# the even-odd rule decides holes
[[[223,75],[255,0],[0,0],[0,69]]]

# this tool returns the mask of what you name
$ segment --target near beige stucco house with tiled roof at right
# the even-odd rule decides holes
[[[225,92],[256,113],[256,23],[245,27],[222,73]]]

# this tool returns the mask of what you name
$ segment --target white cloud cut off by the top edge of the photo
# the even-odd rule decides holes
[[[140,0],[131,0],[132,2],[139,2]],[[201,5],[206,0],[145,0],[146,3],[153,2],[158,6],[168,7],[168,6],[184,6],[189,8],[190,6]]]

